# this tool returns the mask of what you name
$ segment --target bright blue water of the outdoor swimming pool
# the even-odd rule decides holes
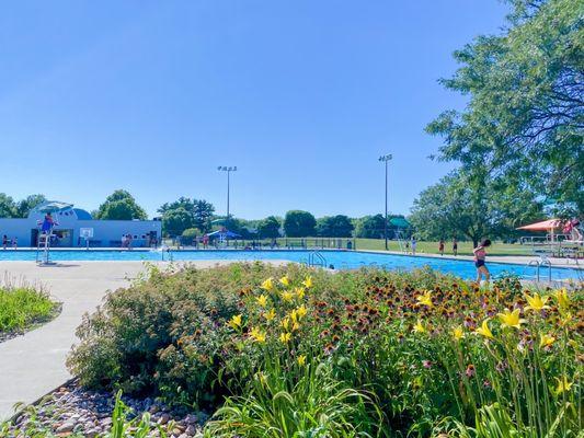
[[[173,251],[172,258],[180,261],[262,261],[285,260],[290,262],[307,263],[309,251]],[[474,278],[474,264],[470,261],[456,261],[450,258],[422,257],[396,254],[379,254],[368,252],[347,251],[322,251],[327,265],[333,265],[336,269],[354,269],[363,266],[377,266],[387,269],[411,270],[423,266],[433,269],[455,274],[462,278]],[[31,261],[36,258],[35,251],[1,251],[0,261]],[[53,251],[50,258],[54,262],[65,261],[160,261],[162,253],[159,251],[115,251],[115,250],[90,250],[90,251]],[[164,254],[169,260],[169,254]],[[513,274],[524,279],[534,279],[536,268],[525,265],[512,265],[503,263],[488,263],[493,277],[504,274]],[[548,270],[542,269],[541,278],[547,278]],[[552,279],[582,279],[584,272],[569,268],[553,268]]]

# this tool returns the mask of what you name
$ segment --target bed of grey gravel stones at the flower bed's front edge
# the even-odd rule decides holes
[[[122,397],[133,412],[128,419],[151,415],[153,426],[149,437],[159,437],[160,426],[169,437],[202,437],[202,426],[208,415],[204,412],[187,412],[184,408],[170,408],[154,399]],[[112,411],[115,394],[91,391],[71,381],[48,394],[36,405],[28,406],[12,422],[10,429],[14,437],[27,437],[27,429],[46,428],[57,437],[96,438],[112,427]],[[1,427],[0,427],[1,428]]]

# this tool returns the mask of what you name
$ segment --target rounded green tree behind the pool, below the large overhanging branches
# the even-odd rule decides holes
[[[539,219],[542,206],[529,189],[455,171],[414,200],[412,222],[424,240],[507,238],[523,222]]]

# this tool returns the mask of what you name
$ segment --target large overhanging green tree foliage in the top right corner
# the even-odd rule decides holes
[[[443,160],[484,164],[518,184],[584,210],[584,3],[514,0],[506,30],[455,53],[442,83],[470,97],[427,126]],[[565,210],[565,208],[564,208]]]

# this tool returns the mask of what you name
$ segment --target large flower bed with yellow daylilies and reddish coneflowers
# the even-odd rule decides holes
[[[85,319],[69,366],[217,408],[209,436],[575,435],[581,300],[430,270],[152,269]]]

